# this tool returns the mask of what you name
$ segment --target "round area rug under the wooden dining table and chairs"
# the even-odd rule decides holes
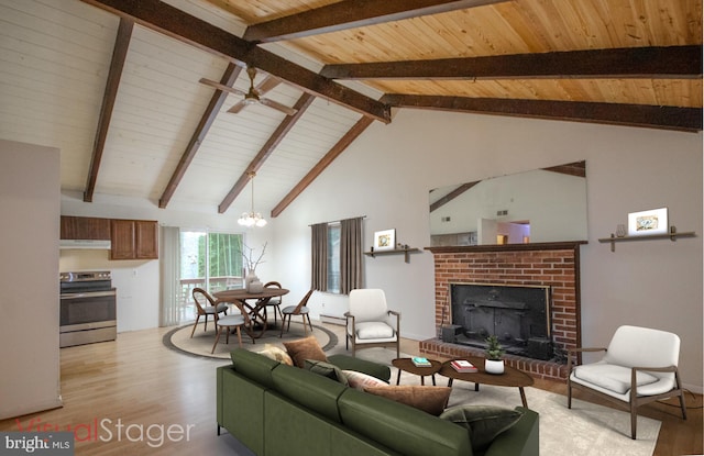
[[[185,355],[216,359],[230,359],[230,352],[239,347],[238,335],[230,334],[230,343],[226,344],[226,334],[223,332],[223,334],[220,335],[215,353],[210,353],[210,351],[212,351],[212,344],[216,342],[216,325],[212,321],[209,321],[208,331],[204,331],[204,323],[198,323],[198,327],[196,327],[196,332],[191,338],[190,332],[193,331],[193,327],[194,325],[191,323],[176,327],[164,334],[162,340],[164,345],[167,348]],[[338,345],[338,336],[330,330],[315,324],[312,325],[312,335],[316,336],[323,352],[327,352]],[[254,344],[252,344],[252,337],[242,331],[242,348],[258,352],[264,348],[265,344],[272,344],[285,349],[284,342],[297,341],[306,336],[304,335],[300,324],[292,324],[290,330],[285,332],[282,337],[278,337],[279,334],[280,326],[270,329],[264,333],[264,335],[262,335],[262,337],[255,338]],[[308,335],[310,335],[310,331],[308,331]]]

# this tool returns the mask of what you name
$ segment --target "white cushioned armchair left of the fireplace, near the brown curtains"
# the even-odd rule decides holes
[[[352,343],[352,356],[358,348],[395,346],[396,357],[400,357],[400,313],[388,310],[384,290],[366,288],[350,291],[350,310],[344,316],[344,346],[350,349]]]

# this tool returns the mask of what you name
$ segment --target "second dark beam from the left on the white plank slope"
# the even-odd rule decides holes
[[[222,75],[222,78],[220,79],[220,84],[222,84],[223,86],[232,87],[232,85],[234,85],[234,81],[240,76],[241,71],[242,71],[242,67],[239,67],[230,63],[228,65],[228,68],[226,68]],[[160,198],[158,200],[160,208],[162,209],[166,208],[166,205],[170,201],[172,197],[174,196],[174,192],[176,191],[176,188],[178,187],[182,179],[186,175],[186,170],[190,166],[190,163],[193,162],[194,157],[196,156],[198,148],[205,141],[206,135],[208,134],[208,132],[210,131],[210,127],[212,126],[212,123],[215,122],[216,118],[220,113],[220,108],[222,108],[222,104],[224,103],[224,100],[228,98],[228,96],[229,93],[223,90],[216,90],[212,93],[212,97],[210,98],[210,102],[206,107],[206,110],[204,111],[200,118],[200,122],[198,122],[198,126],[196,126],[194,134],[190,136],[190,141],[188,142],[188,145],[186,146],[186,149],[180,156],[180,159],[178,160],[178,165],[176,165],[176,169],[174,170],[174,174],[168,180],[168,185],[164,189],[164,193],[162,194],[162,198]]]

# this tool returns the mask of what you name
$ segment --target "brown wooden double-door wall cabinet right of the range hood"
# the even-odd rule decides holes
[[[151,220],[110,222],[112,247],[110,259],[157,259],[158,223]]]

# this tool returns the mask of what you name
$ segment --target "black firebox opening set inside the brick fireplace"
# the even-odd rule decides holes
[[[484,348],[496,335],[508,354],[550,359],[550,294],[549,286],[450,283],[443,341]]]

